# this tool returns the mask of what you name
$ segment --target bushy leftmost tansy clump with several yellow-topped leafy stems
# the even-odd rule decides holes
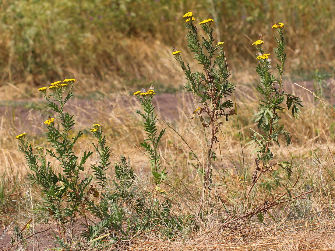
[[[85,228],[83,236],[86,240],[92,240],[99,234],[106,233],[109,228],[121,229],[124,221],[123,208],[118,205],[120,196],[117,196],[117,192],[111,194],[106,187],[106,174],[111,164],[110,148],[106,146],[100,124],[93,124],[91,129],[97,139],[96,145],[92,143],[97,153],[96,163],[90,165],[92,175],[87,175],[84,168],[94,152],[84,151],[81,156],[75,154],[74,147],[83,133],[79,131],[70,136],[73,135],[75,119],[63,110],[73,96],[74,82],[75,79],[65,79],[63,82],[52,83],[49,88],[39,89],[47,100],[51,113],[57,114],[57,117],[48,116],[44,122],[48,147],[37,146],[35,152],[26,139],[26,133],[16,136],[20,141],[19,148],[25,154],[32,171],[28,174],[29,180],[42,188],[43,202],[39,209],[47,211],[57,222],[59,243],[73,237],[75,224],[82,224]],[[47,158],[54,159],[57,164],[51,164]],[[59,166],[60,170],[53,166]],[[92,220],[92,215],[99,221],[94,218]]]

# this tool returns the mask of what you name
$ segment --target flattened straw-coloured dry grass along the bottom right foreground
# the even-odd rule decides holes
[[[295,221],[248,228],[222,228],[213,222],[184,239],[134,240],[125,250],[335,250],[334,223]],[[115,250],[115,249],[114,249]]]

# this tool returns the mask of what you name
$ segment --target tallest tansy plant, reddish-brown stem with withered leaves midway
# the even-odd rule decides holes
[[[219,142],[218,132],[222,125],[221,117],[229,120],[229,116],[236,114],[233,102],[227,97],[231,95],[235,87],[229,81],[229,72],[223,50],[224,43],[213,44],[213,29],[210,27],[214,21],[211,18],[201,21],[199,24],[206,36],[198,36],[193,13],[184,15],[185,26],[188,29],[186,38],[188,48],[194,54],[194,58],[202,66],[203,72],[191,71],[190,65],[185,64],[181,51],[174,48],[172,55],[180,63],[185,72],[187,91],[192,92],[199,100],[199,106],[194,110],[194,116],[198,116],[205,132],[207,164],[199,170],[203,174],[203,193],[200,199],[200,207],[205,190],[212,186],[212,161],[216,159],[214,151],[215,143]]]

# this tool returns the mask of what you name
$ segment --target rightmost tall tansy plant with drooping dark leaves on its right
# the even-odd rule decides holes
[[[254,114],[256,117],[255,122],[260,132],[255,132],[251,137],[248,144],[255,146],[253,153],[257,154],[255,159],[255,171],[251,177],[252,184],[246,194],[248,197],[250,191],[255,186],[256,182],[260,178],[262,173],[266,171],[272,171],[281,167],[286,170],[287,177],[291,175],[291,165],[287,161],[280,161],[269,164],[269,161],[273,159],[273,152],[271,151],[271,143],[279,144],[279,137],[281,135],[286,139],[286,145],[291,144],[291,136],[285,131],[284,124],[280,123],[280,112],[284,110],[283,103],[286,100],[286,108],[291,110],[294,118],[298,118],[301,113],[299,107],[303,107],[301,100],[298,96],[293,94],[285,93],[283,90],[283,79],[284,79],[284,64],[286,59],[285,54],[285,42],[283,36],[283,23],[275,23],[272,28],[278,32],[278,37],[274,36],[277,42],[277,48],[274,49],[274,56],[277,58],[279,63],[276,64],[276,70],[278,72],[277,77],[270,72],[271,64],[269,60],[270,53],[265,53],[262,49],[264,44],[263,35],[253,43],[255,48],[258,50],[256,58],[259,64],[256,67],[257,74],[260,76],[260,84],[256,87],[257,91],[262,95],[258,112]]]

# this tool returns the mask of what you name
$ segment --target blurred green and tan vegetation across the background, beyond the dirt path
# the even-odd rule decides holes
[[[144,69],[176,64],[157,61],[170,58],[173,45],[188,55],[182,18],[187,11],[197,21],[215,20],[215,35],[236,68],[254,62],[251,44],[259,34],[272,52],[276,21],[285,23],[291,72],[332,71],[335,63],[333,0],[2,0],[0,10],[0,85],[41,86],[78,74],[162,82],[158,75],[171,68],[153,71],[149,79]]]

